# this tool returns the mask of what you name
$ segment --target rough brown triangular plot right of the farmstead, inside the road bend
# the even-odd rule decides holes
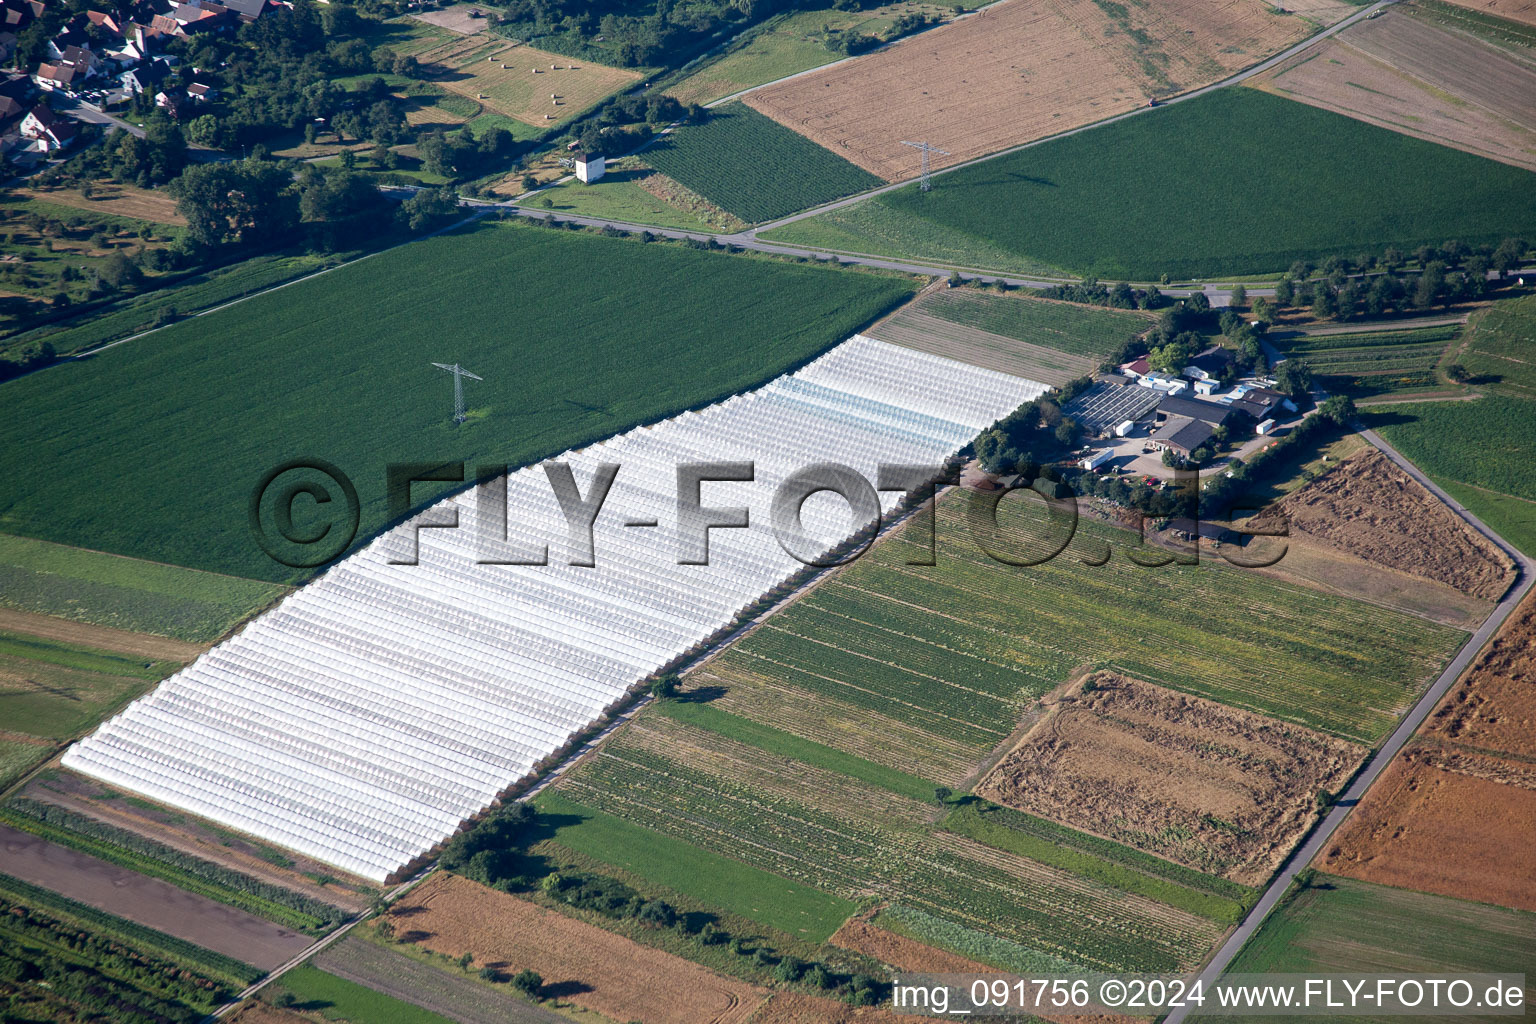
[[[1290,519],[1293,534],[1471,597],[1498,600],[1513,580],[1502,551],[1375,448],[1272,510]]]

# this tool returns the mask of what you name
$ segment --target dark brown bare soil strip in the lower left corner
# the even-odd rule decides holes
[[[270,970],[312,940],[253,913],[183,892],[170,883],[0,826],[8,875],[92,907]]]

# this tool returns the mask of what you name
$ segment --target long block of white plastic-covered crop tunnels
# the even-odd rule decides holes
[[[559,751],[630,688],[728,626],[803,567],[768,517],[777,484],[816,462],[871,482],[880,464],[937,465],[1046,385],[862,335],[765,387],[561,456],[588,493],[621,465],[594,531],[596,568],[567,563],[545,471],[507,477],[508,542],[550,565],[479,565],[476,493],[456,530],[382,534],[215,646],[92,735],[65,766],[384,881]],[[750,461],[707,482],[746,505],[711,530],[710,565],[677,565],[676,467]],[[883,508],[900,494],[882,493]],[[656,519],[656,528],[625,527]],[[848,504],[805,502],[805,528],[852,536]]]

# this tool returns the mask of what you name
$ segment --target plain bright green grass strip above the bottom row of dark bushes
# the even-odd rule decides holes
[[[554,841],[780,932],[820,941],[857,909],[851,901],[710,854],[611,814],[544,791],[535,798]]]

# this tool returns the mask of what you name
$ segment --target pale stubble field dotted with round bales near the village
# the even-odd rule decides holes
[[[641,77],[485,35],[450,38],[416,60],[435,84],[539,127],[562,124]]]

